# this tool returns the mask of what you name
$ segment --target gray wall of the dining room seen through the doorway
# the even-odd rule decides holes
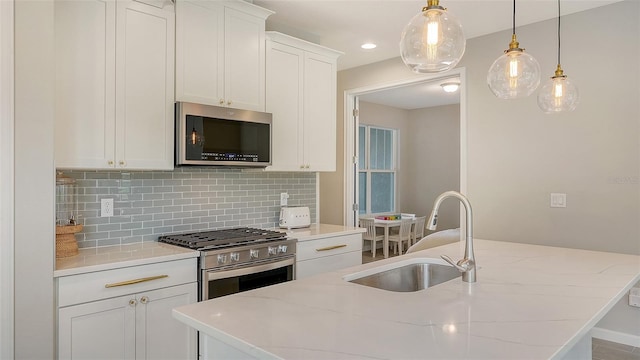
[[[405,110],[360,101],[359,121],[398,129],[398,211],[428,216],[439,194],[460,190],[459,105]],[[444,202],[439,215],[438,230],[460,226],[459,203]]]

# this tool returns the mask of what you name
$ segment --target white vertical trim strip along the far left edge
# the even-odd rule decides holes
[[[0,1],[0,359],[14,358],[13,1]]]

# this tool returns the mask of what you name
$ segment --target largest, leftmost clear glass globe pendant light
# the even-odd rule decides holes
[[[462,25],[439,5],[439,0],[428,0],[400,37],[402,61],[416,73],[452,69],[462,58],[465,46]]]

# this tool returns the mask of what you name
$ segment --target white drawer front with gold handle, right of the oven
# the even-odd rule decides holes
[[[362,234],[358,233],[300,241],[296,246],[297,261],[343,254],[352,251],[362,252]]]

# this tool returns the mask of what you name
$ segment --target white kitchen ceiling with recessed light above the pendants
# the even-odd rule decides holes
[[[562,14],[570,14],[621,0],[562,0]],[[316,44],[342,51],[338,70],[398,57],[398,43],[404,26],[421,11],[425,0],[253,0],[253,3],[275,11],[267,19],[267,30],[280,31]],[[440,0],[440,5],[458,17],[467,39],[510,29],[511,0]],[[557,16],[556,0],[518,0],[518,26]],[[365,42],[378,45],[373,50],[360,48]],[[507,43],[505,43],[506,47]],[[439,89],[435,84],[434,89]],[[413,92],[409,92],[413,94]],[[430,97],[437,102],[436,95]],[[404,98],[409,96],[386,94]],[[424,98],[424,97],[423,97]],[[448,98],[441,101],[446,103]],[[399,105],[399,107],[404,105]],[[412,103],[416,108],[427,107]]]

